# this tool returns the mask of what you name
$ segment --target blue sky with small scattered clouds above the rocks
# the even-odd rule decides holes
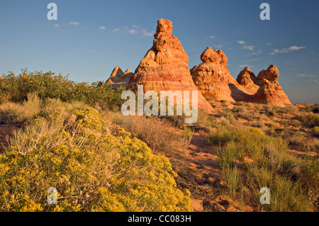
[[[57,21],[47,4],[57,4]],[[270,21],[259,18],[262,2]],[[108,79],[112,69],[134,71],[159,18],[200,64],[207,46],[228,57],[233,77],[248,65],[254,74],[275,64],[293,103],[319,103],[319,1],[16,1],[0,2],[0,74],[52,71],[74,81]]]

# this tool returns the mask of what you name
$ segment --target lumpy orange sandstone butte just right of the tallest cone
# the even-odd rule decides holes
[[[228,84],[237,86],[237,81],[227,69],[228,59],[223,51],[207,47],[201,60],[203,62],[196,67],[193,80],[203,96],[215,101],[235,101]]]

